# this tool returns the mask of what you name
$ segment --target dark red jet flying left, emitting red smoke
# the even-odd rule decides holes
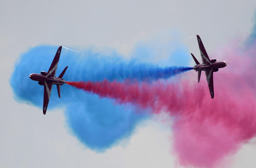
[[[67,67],[61,72],[61,75],[55,77],[56,70],[58,68],[58,61],[60,59],[62,46],[58,48],[56,55],[52,61],[52,64],[48,70],[48,72],[42,71],[41,74],[32,73],[29,75],[29,78],[33,81],[38,81],[38,84],[44,85],[44,106],[43,113],[46,113],[47,106],[50,100],[52,85],[56,84],[58,90],[58,96],[61,98],[61,85],[65,84],[64,79],[62,79],[64,73],[67,70]]]

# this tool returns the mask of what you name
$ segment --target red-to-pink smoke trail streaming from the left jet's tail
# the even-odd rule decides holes
[[[256,136],[255,48],[219,50],[218,54],[225,55],[230,64],[214,73],[214,99],[210,98],[206,81],[196,83],[196,74],[192,74],[194,82],[147,84],[104,80],[67,84],[113,98],[120,104],[132,103],[150,107],[153,113],[165,111],[175,116],[173,149],[180,164],[214,167]]]

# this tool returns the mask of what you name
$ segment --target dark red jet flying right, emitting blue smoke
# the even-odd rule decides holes
[[[198,71],[198,83],[200,81],[201,71],[205,72],[206,79],[208,82],[208,87],[210,90],[211,97],[214,98],[214,90],[213,90],[213,72],[217,72],[219,68],[224,68],[227,66],[225,61],[216,61],[215,59],[210,60],[207,55],[206,50],[204,49],[204,44],[201,41],[199,35],[196,35],[198,39],[198,45],[202,57],[203,64],[200,64],[195,56],[191,53],[193,59],[195,60],[196,65],[193,67],[194,70]]]

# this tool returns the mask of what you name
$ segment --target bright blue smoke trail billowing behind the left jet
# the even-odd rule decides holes
[[[58,46],[36,46],[20,55],[10,78],[17,100],[42,108],[44,87],[26,75],[47,71],[57,49]],[[66,81],[102,81],[104,78],[110,81],[125,78],[156,80],[189,70],[188,67],[162,68],[138,63],[134,59],[129,61],[116,52],[104,55],[87,49],[77,53],[63,48],[56,75],[66,66],[69,66],[64,75]],[[88,148],[96,151],[104,151],[120,139],[131,136],[136,125],[148,118],[145,113],[136,113],[135,107],[129,104],[116,105],[113,100],[81,94],[68,85],[61,87],[61,99],[57,95],[53,88],[48,109],[66,107],[65,115],[71,131]]]

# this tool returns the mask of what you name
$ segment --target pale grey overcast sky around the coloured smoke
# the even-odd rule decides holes
[[[172,131],[157,122],[159,116],[142,122],[130,139],[105,153],[91,151],[68,129],[64,109],[44,116],[41,108],[15,101],[9,84],[15,61],[41,44],[116,49],[129,57],[138,42],[162,44],[166,36],[172,40],[171,32],[178,32],[189,52],[197,55],[196,38],[189,37],[200,35],[210,55],[234,38],[246,38],[256,14],[255,0],[26,0],[0,4],[0,167],[179,167],[169,142]],[[228,167],[254,168],[255,142],[243,145]]]

